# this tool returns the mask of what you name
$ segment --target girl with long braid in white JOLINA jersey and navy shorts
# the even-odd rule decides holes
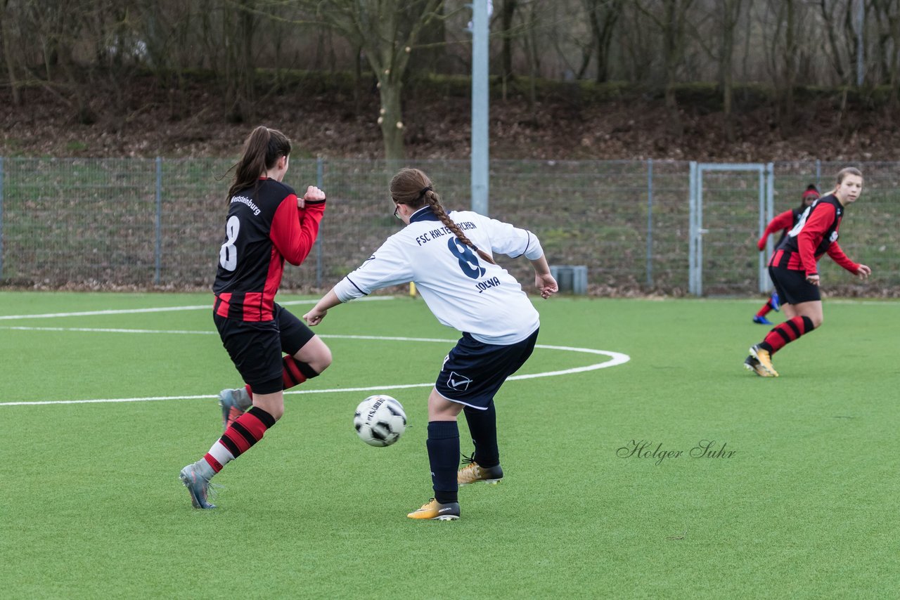
[[[459,485],[503,477],[494,395],[531,355],[540,326],[516,279],[492,255],[525,255],[535,285],[549,298],[558,287],[535,234],[468,210],[449,214],[428,176],[405,168],[391,181],[395,233],[356,271],[338,282],[303,318],[319,325],[342,302],[401,283],[416,289],[437,320],[463,332],[428,397],[428,461],[435,497],[408,516],[459,518]],[[456,417],[465,412],[475,452],[459,468]]]

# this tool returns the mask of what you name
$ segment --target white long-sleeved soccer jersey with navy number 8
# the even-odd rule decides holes
[[[469,210],[448,214],[475,246],[491,256],[526,255],[536,260],[544,255],[530,231]],[[438,321],[484,344],[515,344],[540,325],[537,310],[516,278],[465,246],[428,206],[417,210],[407,227],[388,237],[334,290],[338,300],[348,302],[408,282],[416,283]]]

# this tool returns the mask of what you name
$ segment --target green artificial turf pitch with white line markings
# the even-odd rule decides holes
[[[825,300],[824,327],[775,356],[778,379],[762,379],[742,367],[768,330],[751,323],[760,299],[535,302],[540,345],[630,360],[509,381],[497,397],[505,479],[462,488],[459,521],[423,523],[406,513],[431,495],[428,385],[456,335],[422,300],[329,311],[317,333],[334,363],[286,397],[282,421],[214,479],[219,507],[199,511],[178,470],[216,441],[215,397],[239,384],[211,297],[0,292],[0,594],[875,598],[900,588],[900,304]],[[24,317],[193,306],[204,308]],[[539,347],[520,374],[608,360]],[[362,443],[352,425],[356,404],[380,390],[410,424],[388,448]],[[96,399],[130,401],[60,403]]]

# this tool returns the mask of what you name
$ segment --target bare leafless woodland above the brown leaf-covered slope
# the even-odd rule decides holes
[[[678,137],[683,129],[678,84],[716,78],[725,135],[734,139],[736,82],[768,76],[779,124],[788,132],[799,110],[800,85],[854,84],[860,6],[866,84],[889,85],[891,118],[900,107],[900,0],[494,0],[494,5],[494,72],[504,84],[514,72],[527,76],[521,84],[533,110],[538,77],[622,78],[664,89],[668,133]],[[372,119],[378,119],[384,156],[397,160],[405,155],[408,136],[402,117],[410,72],[463,73],[470,66],[464,6],[443,0],[0,0],[0,83],[12,104],[24,103],[23,95],[39,89],[64,103],[78,121],[90,123],[106,112],[101,103],[133,110],[130,84],[139,75],[132,67],[139,63],[166,91],[172,116],[183,118],[193,112],[186,90],[193,69],[200,69],[211,73],[228,118],[247,121],[266,94],[284,89],[288,68],[353,71],[357,109],[363,106],[362,90],[374,90],[370,82],[377,85],[380,114]],[[736,72],[735,48],[743,60]],[[276,85],[263,90],[259,69],[273,66]],[[578,94],[581,85],[572,90]],[[845,106],[846,95],[844,101]]]

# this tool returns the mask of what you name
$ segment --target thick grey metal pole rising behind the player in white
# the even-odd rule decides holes
[[[472,210],[488,214],[488,0],[472,3]]]

